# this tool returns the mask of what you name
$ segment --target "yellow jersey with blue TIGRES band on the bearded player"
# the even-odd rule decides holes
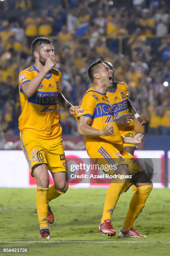
[[[60,93],[61,73],[56,69],[42,80],[37,92],[31,97],[24,94],[22,84],[30,82],[39,70],[33,65],[19,74],[19,92],[22,113],[19,117],[19,129],[40,138],[60,138],[62,128],[59,125],[57,97]]]

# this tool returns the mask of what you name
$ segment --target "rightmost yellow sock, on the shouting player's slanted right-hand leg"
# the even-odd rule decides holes
[[[130,201],[129,210],[121,228],[122,231],[127,231],[130,228],[133,228],[133,223],[145,206],[145,202],[152,188],[152,185],[137,187],[137,191],[135,194],[133,194],[133,197]]]

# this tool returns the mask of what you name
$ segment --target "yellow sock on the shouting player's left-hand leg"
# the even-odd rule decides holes
[[[101,223],[103,223],[106,219],[110,220],[123,186],[123,183],[112,183],[110,184],[110,187],[107,189]]]

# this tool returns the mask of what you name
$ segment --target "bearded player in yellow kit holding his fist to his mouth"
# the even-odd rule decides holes
[[[19,117],[23,152],[32,176],[37,183],[36,205],[40,223],[40,238],[50,238],[48,223],[54,216],[48,202],[64,194],[68,188],[67,168],[62,146],[62,128],[57,104],[75,108],[60,92],[61,73],[55,67],[54,47],[50,38],[36,38],[32,42],[35,64],[19,74],[22,113]],[[54,185],[49,188],[50,170]]]

